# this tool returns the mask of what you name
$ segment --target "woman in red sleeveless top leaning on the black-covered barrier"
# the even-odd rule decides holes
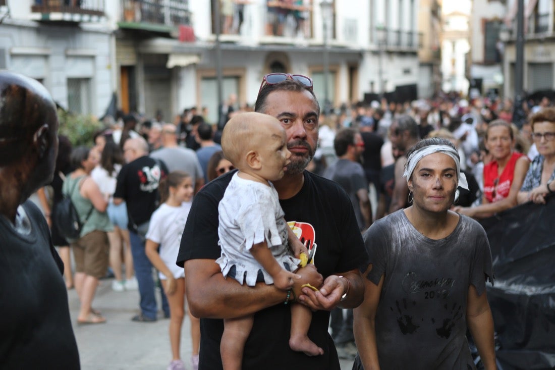
[[[484,167],[482,204],[471,208],[454,208],[456,212],[474,218],[489,217],[516,206],[518,191],[530,165],[528,157],[513,152],[513,131],[506,121],[496,119],[490,122],[485,141],[493,161]]]

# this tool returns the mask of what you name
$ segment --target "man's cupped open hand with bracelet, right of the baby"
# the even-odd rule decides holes
[[[298,299],[311,309],[330,311],[337,306],[341,301],[341,296],[346,292],[344,280],[337,275],[330,275],[325,279],[324,286],[318,291],[313,291],[308,287],[302,288],[303,294]]]

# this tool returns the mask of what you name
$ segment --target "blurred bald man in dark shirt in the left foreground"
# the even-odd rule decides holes
[[[63,263],[29,196],[52,181],[58,118],[32,78],[0,72],[0,364],[79,369]]]

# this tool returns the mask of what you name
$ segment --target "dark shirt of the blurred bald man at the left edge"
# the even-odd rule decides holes
[[[0,368],[79,369],[63,263],[41,211],[23,209],[28,234],[0,216]]]

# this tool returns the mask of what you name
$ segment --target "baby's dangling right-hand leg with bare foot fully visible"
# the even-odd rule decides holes
[[[324,350],[308,337],[312,312],[302,304],[291,304],[291,337],[289,347],[293,351],[304,352],[307,356],[324,354]]]

